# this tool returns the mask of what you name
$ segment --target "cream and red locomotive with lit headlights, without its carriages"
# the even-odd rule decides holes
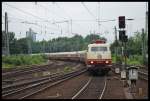
[[[110,45],[105,41],[98,40],[88,45],[86,64],[92,70],[110,70],[112,63]]]

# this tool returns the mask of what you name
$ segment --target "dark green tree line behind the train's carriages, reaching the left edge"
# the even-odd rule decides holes
[[[4,41],[5,41],[5,32],[3,31],[3,40],[2,40],[2,48],[4,50]],[[16,39],[15,33],[9,32],[10,37],[10,54],[28,54],[28,39],[21,38]],[[93,40],[96,39],[104,39],[104,37],[100,37],[96,34],[87,35],[83,38],[81,35],[74,35],[71,38],[68,37],[58,37],[49,41],[36,41],[33,42],[31,40],[32,53],[44,53],[44,52],[69,52],[69,51],[81,51],[86,50],[88,44],[90,44]],[[19,60],[18,60],[19,61]],[[26,63],[26,60],[23,60]],[[19,63],[19,62],[17,62]]]

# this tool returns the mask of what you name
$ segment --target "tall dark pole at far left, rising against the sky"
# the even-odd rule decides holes
[[[7,12],[5,12],[5,34],[6,34],[6,55],[10,55],[10,53],[9,53],[9,35],[8,35],[8,16],[7,16]]]

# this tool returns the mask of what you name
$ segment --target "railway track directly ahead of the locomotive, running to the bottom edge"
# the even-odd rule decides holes
[[[102,99],[106,84],[105,77],[91,77],[72,99]]]

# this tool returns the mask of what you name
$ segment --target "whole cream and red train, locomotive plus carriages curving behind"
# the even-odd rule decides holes
[[[111,70],[112,58],[110,45],[104,40],[96,40],[88,45],[87,50],[75,52],[47,53],[50,60],[82,62],[89,71],[108,73]]]

